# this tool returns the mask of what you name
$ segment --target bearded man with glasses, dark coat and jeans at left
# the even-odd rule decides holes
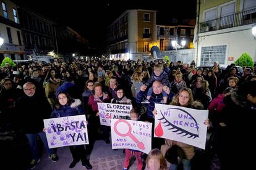
[[[51,115],[51,106],[46,100],[45,95],[36,92],[35,84],[28,82],[23,85],[23,95],[15,105],[18,114],[18,124],[20,129],[26,134],[29,145],[32,161],[30,169],[35,168],[36,163],[40,161],[40,152],[36,141],[37,136],[40,136],[46,148],[49,158],[56,162],[59,160],[53,148],[48,147],[45,132],[43,132],[43,119],[48,119]]]

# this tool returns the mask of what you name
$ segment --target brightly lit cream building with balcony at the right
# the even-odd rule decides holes
[[[256,60],[255,0],[197,0],[195,61],[197,65],[234,63],[244,52]]]

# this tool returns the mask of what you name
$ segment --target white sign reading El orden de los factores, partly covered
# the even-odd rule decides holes
[[[110,126],[110,119],[130,118],[130,110],[132,105],[121,105],[113,103],[98,103],[100,113],[100,124]]]

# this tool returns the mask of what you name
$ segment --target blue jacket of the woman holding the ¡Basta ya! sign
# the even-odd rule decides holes
[[[60,118],[65,116],[75,116],[75,115],[83,115],[85,111],[81,105],[81,101],[79,99],[75,99],[71,105],[67,104],[62,106],[61,108],[56,108],[51,113],[51,118]]]

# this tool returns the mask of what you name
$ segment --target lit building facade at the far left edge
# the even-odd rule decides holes
[[[12,60],[24,59],[23,38],[17,6],[9,0],[0,1],[0,36],[4,44],[0,46],[0,63],[4,57]]]

